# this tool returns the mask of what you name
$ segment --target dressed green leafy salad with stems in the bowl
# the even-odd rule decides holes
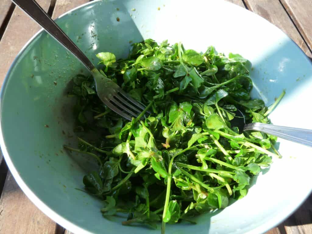
[[[242,56],[148,39],[134,43],[127,59],[97,57],[100,72],[147,107],[128,121],[101,102],[91,76],[73,78],[79,149],[64,147],[97,161],[84,191],[103,200],[105,218],[124,213],[123,225],[162,223],[162,233],[166,223],[195,223],[246,196],[251,178],[280,157],[276,137],[233,124],[238,110],[246,123],[269,123],[284,95],[270,108],[251,99],[251,63]]]

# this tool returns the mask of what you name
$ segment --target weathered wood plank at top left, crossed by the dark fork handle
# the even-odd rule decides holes
[[[50,0],[38,0],[37,2],[45,11],[49,9]],[[15,7],[6,31],[0,41],[0,86],[18,52],[40,28],[22,10]]]

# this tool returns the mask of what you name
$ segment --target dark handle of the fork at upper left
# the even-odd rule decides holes
[[[66,49],[71,51],[90,71],[95,68],[92,62],[75,45],[61,28],[52,20],[52,18],[39,6],[35,0],[12,0],[28,16],[43,27],[47,33],[54,37]]]

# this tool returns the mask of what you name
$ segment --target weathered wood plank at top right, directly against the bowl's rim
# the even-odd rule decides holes
[[[312,53],[278,0],[245,0],[249,10],[262,16],[285,32],[309,57]],[[294,1],[297,2],[297,1]],[[301,2],[296,4],[300,5]]]

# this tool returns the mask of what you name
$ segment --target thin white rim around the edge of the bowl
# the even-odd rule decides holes
[[[219,0],[213,0],[214,2],[218,2],[220,4]],[[97,4],[98,2],[102,2],[102,0],[94,0],[92,2],[86,2],[78,7],[75,7],[63,14],[61,14],[59,17],[57,17],[56,19],[54,19],[55,21],[57,21],[59,18],[73,12],[76,11],[80,8],[83,8],[85,6],[88,5],[93,5],[93,4]],[[290,41],[291,43],[293,43],[293,45],[295,45],[295,47],[297,48],[298,52],[302,54],[302,59],[305,59],[311,66],[312,66],[312,61],[308,58],[308,56],[301,50],[301,48],[290,38],[288,37],[288,35],[283,32],[280,28],[278,28],[277,26],[275,26],[274,24],[272,24],[271,22],[269,22],[268,20],[266,20],[265,18],[257,15],[254,12],[249,11],[246,8],[243,8],[241,6],[238,6],[232,2],[227,2],[226,0],[222,0],[222,4],[228,4],[229,7],[236,7],[236,8],[241,8],[242,10],[248,11],[251,15],[253,15],[253,17],[257,17],[258,19],[260,19],[263,22],[269,23],[271,24],[271,26],[275,27],[275,30],[278,30],[280,33],[284,34]],[[32,203],[38,208],[40,209],[46,216],[48,216],[49,218],[51,218],[54,222],[56,222],[57,224],[61,225],[62,227],[68,229],[69,231],[73,232],[73,233],[83,233],[83,234],[92,234],[92,232],[89,232],[87,230],[85,230],[84,228],[72,223],[71,221],[67,220],[66,218],[62,217],[61,215],[59,215],[57,212],[55,212],[52,208],[50,208],[48,205],[46,205],[43,201],[41,201],[41,199],[39,197],[37,197],[37,195],[32,192],[32,190],[27,186],[27,184],[24,182],[24,180],[22,179],[22,177],[20,176],[20,174],[17,171],[17,168],[14,166],[11,157],[7,151],[7,147],[4,141],[4,136],[3,136],[3,132],[2,132],[2,109],[1,109],[1,105],[2,105],[2,100],[3,100],[3,96],[4,96],[4,90],[5,87],[7,86],[8,80],[9,80],[9,75],[12,72],[13,67],[15,66],[17,60],[20,58],[20,56],[22,55],[22,53],[25,51],[25,49],[27,48],[27,46],[32,43],[32,41],[35,40],[35,38],[41,34],[42,32],[45,32],[45,30],[43,28],[41,28],[37,33],[35,33],[27,42],[26,44],[22,47],[22,49],[18,52],[17,56],[15,57],[15,59],[13,60],[9,70],[7,71],[7,74],[4,78],[4,81],[2,83],[2,87],[1,87],[1,91],[0,91],[0,146],[1,146],[1,150],[2,150],[2,154],[3,157],[7,163],[7,166],[10,170],[10,172],[12,173],[14,179],[16,180],[18,186],[22,189],[22,191],[26,194],[26,196],[32,201]],[[297,202],[296,205],[290,206],[287,205],[284,207],[284,209],[280,210],[280,212],[275,215],[274,217],[271,218],[271,220],[269,222],[266,222],[264,224],[261,224],[259,226],[257,226],[256,228],[245,232],[245,234],[253,234],[253,233],[265,233],[267,231],[269,231],[270,229],[272,229],[273,227],[276,227],[278,224],[280,224],[281,222],[283,222],[285,219],[287,219],[290,215],[292,215],[307,199],[307,197],[310,196],[310,193],[312,192],[312,189],[310,190],[309,193],[307,193],[303,199],[300,202]]]

